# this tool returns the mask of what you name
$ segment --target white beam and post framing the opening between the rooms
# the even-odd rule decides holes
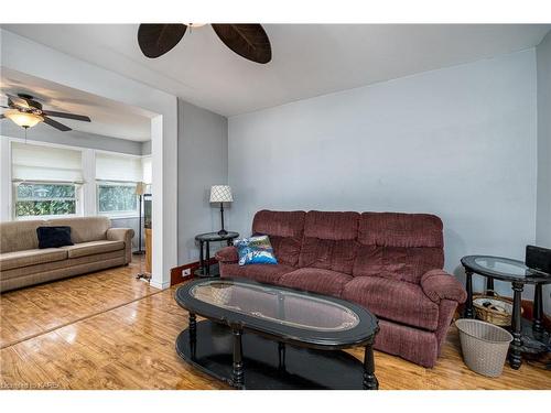
[[[151,284],[170,285],[177,263],[176,97],[78,58],[0,30],[1,65],[158,113],[151,121],[153,177],[153,274]]]

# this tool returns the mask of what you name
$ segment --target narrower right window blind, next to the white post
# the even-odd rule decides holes
[[[96,152],[96,180],[141,182],[141,159]]]

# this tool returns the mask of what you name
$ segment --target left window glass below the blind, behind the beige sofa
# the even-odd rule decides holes
[[[75,215],[77,187],[75,184],[20,183],[15,184],[15,218],[51,215]]]

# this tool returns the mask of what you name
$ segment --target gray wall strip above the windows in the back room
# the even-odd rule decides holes
[[[0,122],[0,134],[21,139],[24,139],[25,137],[25,132],[22,128],[7,120]],[[29,129],[26,137],[29,140],[33,141],[128,153],[132,155],[141,155],[142,145],[145,143],[104,137],[94,133],[84,133],[75,130],[69,132],[60,132],[44,123],[40,123],[36,127]],[[151,145],[149,153],[151,153]]]

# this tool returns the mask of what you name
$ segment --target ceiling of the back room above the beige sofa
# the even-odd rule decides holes
[[[0,105],[7,104],[4,94],[29,94],[44,109],[85,115],[91,122],[53,118],[69,128],[86,133],[144,142],[151,140],[152,113],[143,109],[90,95],[53,81],[40,79],[6,67],[0,67]],[[8,120],[2,120],[7,122]],[[42,126],[41,126],[42,127]],[[46,124],[43,128],[51,128]],[[55,130],[52,129],[51,130]],[[64,132],[60,132],[64,133]]]

